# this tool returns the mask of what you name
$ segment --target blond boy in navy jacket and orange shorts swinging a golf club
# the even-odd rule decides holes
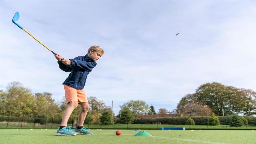
[[[83,127],[86,114],[90,108],[88,100],[83,90],[87,75],[97,65],[96,61],[104,54],[104,50],[99,46],[91,46],[85,56],[78,56],[74,59],[61,60],[61,55],[54,55],[58,60],[59,68],[65,72],[71,72],[64,81],[65,97],[69,106],[63,113],[61,126],[55,135],[72,136],[76,134],[93,134]],[[68,119],[72,111],[80,104],[78,123],[73,132],[67,127]]]

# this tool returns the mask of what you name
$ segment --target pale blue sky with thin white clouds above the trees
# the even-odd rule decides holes
[[[69,72],[17,11],[65,59],[104,49],[84,90],[116,114],[130,100],[172,111],[208,82],[256,91],[254,0],[0,0],[0,89],[19,81],[58,103]]]

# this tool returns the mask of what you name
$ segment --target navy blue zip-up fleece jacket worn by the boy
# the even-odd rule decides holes
[[[75,89],[83,89],[87,79],[87,75],[97,65],[93,59],[87,54],[85,56],[78,56],[74,59],[69,59],[71,65],[65,65],[58,61],[59,68],[65,72],[71,72],[63,84],[71,86]]]

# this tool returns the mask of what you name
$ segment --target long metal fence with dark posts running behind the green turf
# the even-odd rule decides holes
[[[84,127],[90,129],[161,129],[162,127],[185,127],[186,129],[256,129],[256,117],[246,117],[249,125],[242,127],[230,127],[229,122],[231,116],[218,116],[220,125],[212,126],[208,125],[209,116],[190,117],[196,125],[185,124],[189,116],[183,117],[158,117],[158,115],[151,116],[150,118],[143,118],[143,116],[137,116],[132,124],[122,124],[119,118],[113,117],[113,123],[110,125],[103,125],[101,123],[90,123],[90,117],[87,117],[84,123]],[[14,117],[11,114],[8,116],[0,115],[0,128],[1,129],[57,129],[61,125],[61,118],[54,117],[28,117],[23,115],[22,117]],[[75,127],[78,122],[78,117],[70,117],[68,120],[68,126]]]

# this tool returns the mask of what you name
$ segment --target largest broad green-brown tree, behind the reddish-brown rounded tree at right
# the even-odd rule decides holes
[[[177,105],[177,113],[182,113],[184,107],[189,103],[198,103],[208,106],[216,115],[222,115],[222,110],[225,115],[231,115],[233,112],[243,112],[244,103],[242,101],[244,101],[244,93],[238,88],[217,82],[206,83],[200,85],[195,93],[188,94],[180,100]],[[244,111],[248,110],[244,109]]]

